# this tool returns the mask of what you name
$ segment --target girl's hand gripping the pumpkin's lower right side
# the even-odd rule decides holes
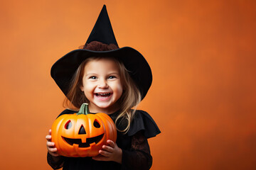
[[[103,145],[99,154],[96,157],[92,157],[97,161],[114,161],[122,164],[122,149],[117,147],[117,144],[112,140],[107,140],[107,145]]]

